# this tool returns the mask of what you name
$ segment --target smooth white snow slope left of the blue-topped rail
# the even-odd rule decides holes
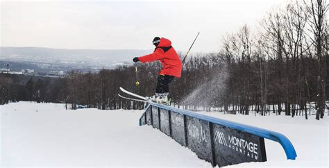
[[[1,108],[1,167],[210,167],[150,126],[142,110],[65,110],[54,103]]]

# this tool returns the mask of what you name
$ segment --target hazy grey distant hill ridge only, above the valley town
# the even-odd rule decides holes
[[[151,50],[150,50],[151,51]],[[92,65],[112,65],[131,62],[133,57],[150,51],[135,49],[49,49],[42,47],[0,47],[0,59],[31,62],[89,62]]]

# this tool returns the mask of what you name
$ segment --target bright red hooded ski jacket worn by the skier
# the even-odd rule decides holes
[[[163,67],[158,73],[159,75],[170,75],[180,78],[182,73],[182,61],[174,47],[171,47],[171,41],[163,37],[153,53],[141,56],[139,59],[143,63],[160,60]]]

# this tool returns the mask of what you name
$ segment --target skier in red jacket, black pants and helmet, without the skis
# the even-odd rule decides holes
[[[182,61],[176,53],[174,47],[171,46],[171,41],[162,37],[154,37],[153,45],[154,52],[141,57],[133,58],[134,62],[153,62],[160,60],[162,69],[158,72],[158,81],[155,89],[155,95],[151,97],[153,101],[158,103],[168,103],[169,83],[174,78],[180,78],[182,72]]]

